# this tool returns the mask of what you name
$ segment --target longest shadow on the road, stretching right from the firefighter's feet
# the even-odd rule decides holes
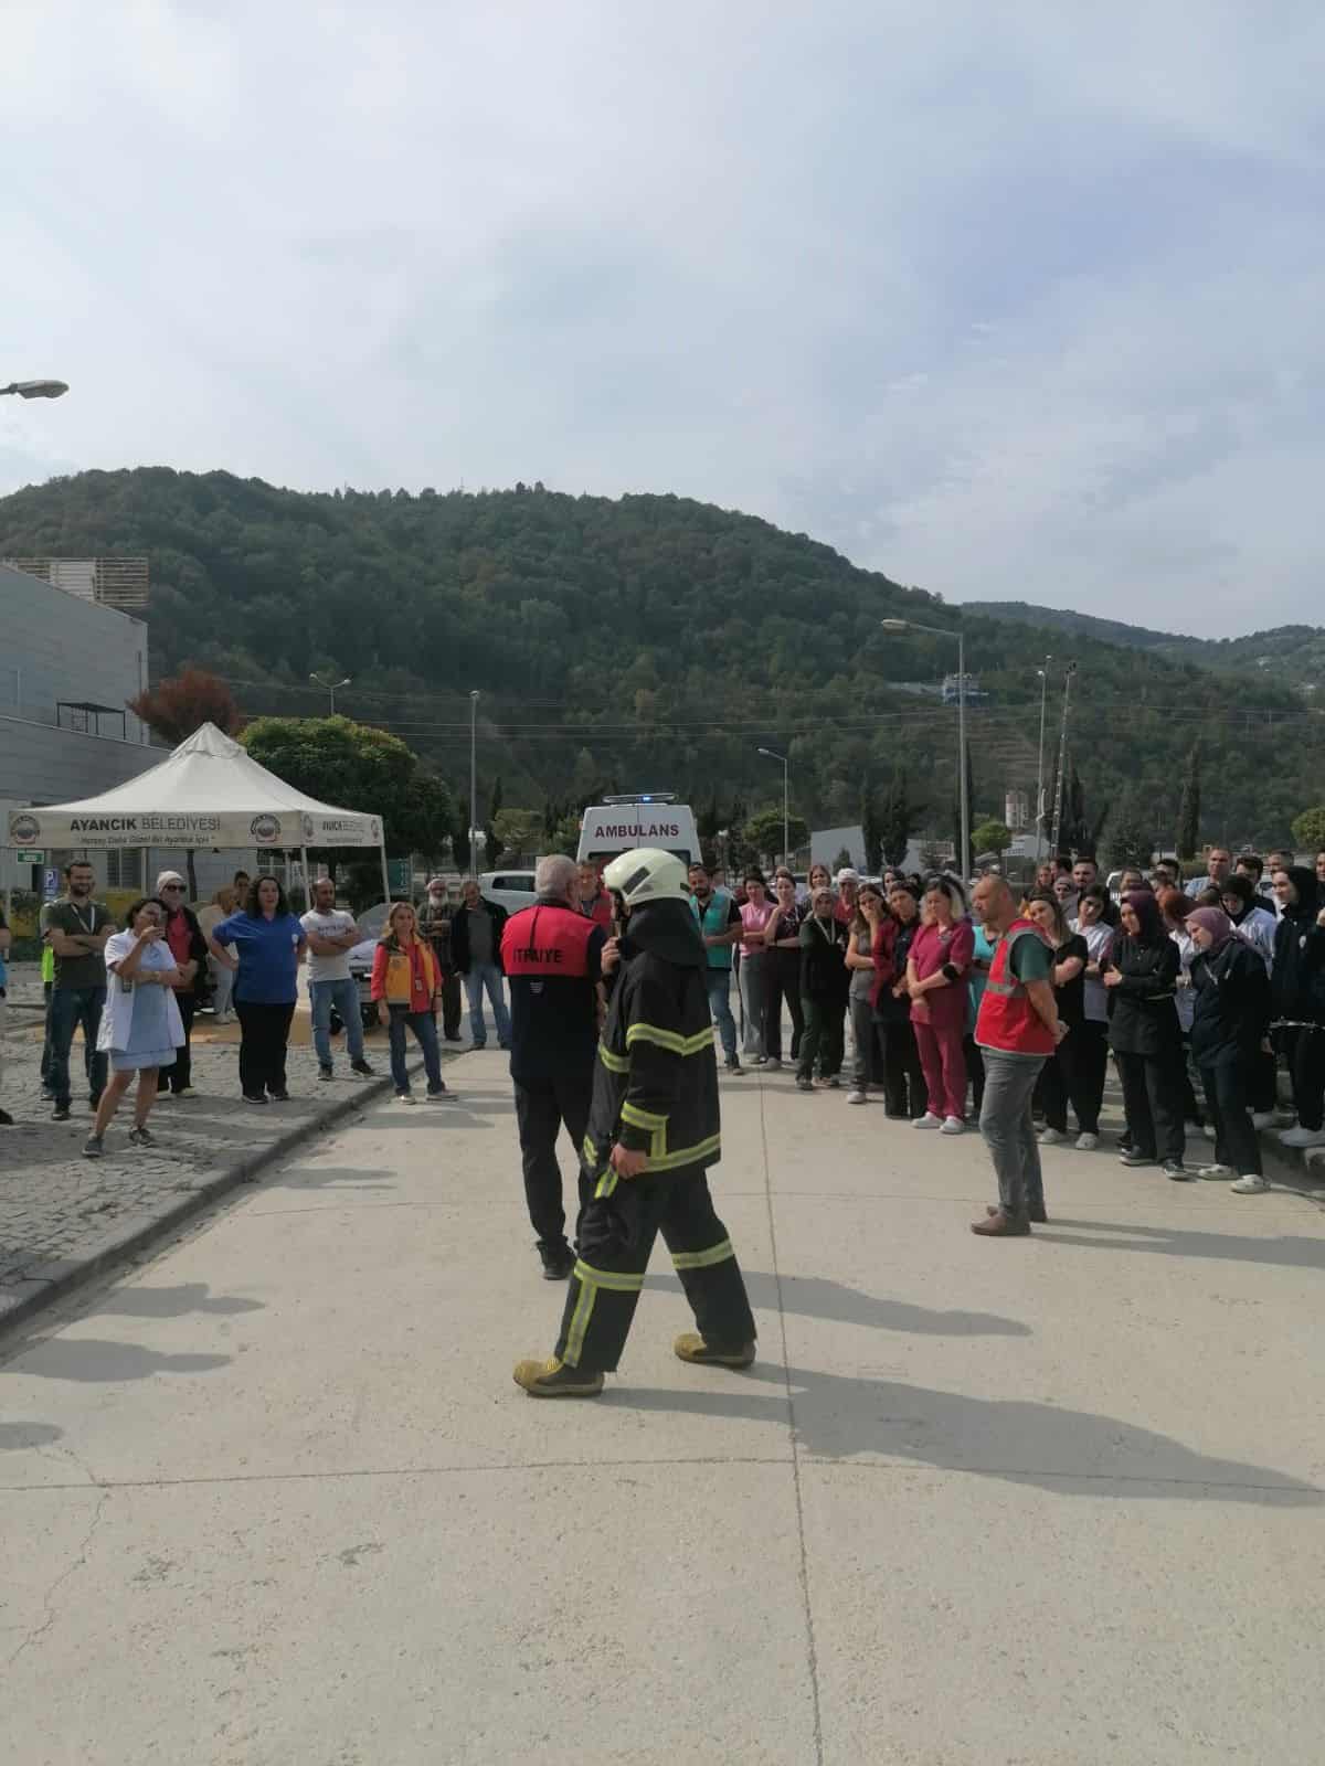
[[[756,1363],[749,1376],[740,1377],[742,1383],[749,1379],[774,1390],[664,1392],[620,1385],[610,1386],[604,1400],[624,1409],[786,1423],[783,1369]],[[1207,1459],[1182,1441],[1117,1416],[1026,1399],[970,1399],[807,1367],[788,1369],[786,1379],[797,1445],[811,1459],[887,1455],[889,1462],[1037,1483],[1065,1496],[1246,1503],[1288,1496],[1304,1505],[1325,1503],[1325,1491],[1316,1485],[1263,1466]],[[972,1464],[975,1455],[993,1464]]]

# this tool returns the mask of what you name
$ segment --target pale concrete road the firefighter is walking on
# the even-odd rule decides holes
[[[546,1349],[504,1061],[318,1143],[0,1370],[25,1766],[1320,1759],[1325,1220],[724,1081],[749,1374],[662,1259]]]

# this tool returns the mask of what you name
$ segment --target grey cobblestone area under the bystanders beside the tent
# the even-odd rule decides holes
[[[14,1118],[0,1127],[0,1326],[16,1307],[30,1307],[51,1284],[67,1282],[88,1261],[124,1249],[125,1240],[150,1233],[163,1217],[194,1206],[221,1192],[237,1174],[302,1137],[337,1107],[378,1097],[389,1084],[385,1037],[369,1038],[367,1058],[378,1081],[352,1077],[336,1040],[336,1079],[316,1077],[313,1049],[290,1049],[290,1102],[254,1109],[238,1097],[237,1026],[212,1031],[210,1019],[193,1044],[196,1098],[161,1097],[152,1109],[155,1148],[129,1144],[131,1109],[125,1100],[106,1134],[106,1155],[83,1158],[92,1113],[83,1075],[81,1044],[74,1044],[71,1072],[74,1100],[69,1121],[49,1120],[51,1106],[41,1098],[41,978],[35,964],[11,971],[9,1024],[4,1042],[0,1106]],[[25,998],[30,1008],[25,1008]],[[210,1042],[212,1035],[235,1040]],[[132,1091],[129,1093],[129,1098]]]

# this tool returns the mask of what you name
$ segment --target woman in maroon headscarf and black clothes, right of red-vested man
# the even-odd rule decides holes
[[[1187,1137],[1182,1127],[1182,1030],[1173,1003],[1178,947],[1164,931],[1150,890],[1131,890],[1101,980],[1109,991],[1109,1045],[1118,1063],[1131,1144],[1124,1166],[1154,1166],[1177,1181]]]

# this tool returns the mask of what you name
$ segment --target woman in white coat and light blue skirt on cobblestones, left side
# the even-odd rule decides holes
[[[134,1074],[138,1095],[129,1139],[134,1146],[152,1146],[147,1118],[157,1095],[157,1072],[173,1065],[175,1051],[184,1047],[184,1019],[173,992],[178,984],[166,943],[166,906],[147,895],[124,917],[124,931],[106,940],[106,1007],[97,1047],[110,1054],[110,1079],[83,1146],[85,1158],[101,1158],[106,1128]]]

